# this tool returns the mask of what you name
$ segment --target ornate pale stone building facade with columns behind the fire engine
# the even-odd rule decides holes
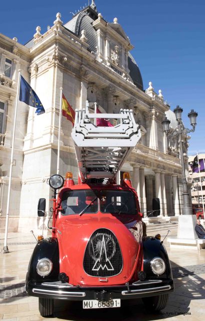
[[[35,108],[18,103],[14,165],[10,202],[10,230],[46,228],[52,192],[47,179],[56,173],[60,87],[73,108],[85,101],[97,102],[105,112],[131,108],[141,125],[142,137],[122,171],[131,173],[141,212],[152,210],[152,199],[160,200],[160,217],[169,221],[183,209],[181,165],[178,143],[163,132],[166,116],[175,126],[175,116],[162,92],[152,83],[144,90],[140,70],[130,54],[129,38],[114,18],[105,21],[94,1],[66,24],[58,13],[54,25],[44,34],[36,28],[26,45],[0,35],[0,227],[4,228],[11,156],[18,70],[37,92],[46,110],[37,116]],[[60,174],[71,171],[78,177],[71,139],[72,123],[62,117]],[[187,153],[187,144],[184,144]],[[188,171],[187,171],[188,173]],[[39,198],[47,200],[47,216],[37,218]]]

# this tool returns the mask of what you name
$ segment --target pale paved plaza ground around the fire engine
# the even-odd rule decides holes
[[[161,231],[162,236],[165,234],[166,230]],[[176,229],[169,235],[175,236]],[[0,244],[3,249],[4,234],[0,234]],[[38,298],[28,297],[24,288],[35,244],[33,235],[9,233],[10,253],[0,254],[0,320],[149,321],[170,318],[171,321],[204,321],[205,249],[170,249],[164,242],[171,261],[175,291],[170,294],[166,308],[158,314],[149,313],[141,299],[122,302],[116,309],[91,310],[83,310],[82,302],[56,301],[54,317],[45,318],[39,313]]]

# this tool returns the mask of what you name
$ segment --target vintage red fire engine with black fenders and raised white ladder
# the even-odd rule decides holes
[[[129,173],[116,184],[120,168],[141,137],[140,126],[131,110],[90,111],[88,102],[76,111],[72,131],[78,184],[72,173],[65,180],[60,175],[49,180],[54,190],[52,237],[39,238],[26,290],[39,297],[42,316],[53,313],[54,299],[80,300],[86,309],[120,307],[124,299],[142,298],[148,309],[163,309],[173,291],[163,242],[143,236]],[[97,126],[97,118],[109,118],[114,125]],[[38,215],[44,213],[45,199],[40,199]]]

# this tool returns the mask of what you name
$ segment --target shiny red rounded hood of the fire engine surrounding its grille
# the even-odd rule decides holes
[[[141,269],[141,224],[141,221],[136,221],[132,218],[129,218],[125,222],[122,218],[119,220],[116,216],[110,214],[84,214],[81,217],[76,215],[63,216],[60,214],[56,222],[60,272],[65,272],[69,277],[69,283],[73,285],[102,286],[102,282],[103,285],[125,284],[133,277],[136,269]],[[122,268],[116,275],[99,277],[99,275],[94,276],[86,273],[84,269],[84,257],[87,255],[85,254],[87,253],[87,246],[90,246],[90,244],[88,244],[89,240],[93,233],[97,233],[96,231],[99,229],[101,229],[101,231],[103,229],[105,235],[107,235],[106,231],[111,235],[114,234],[112,239],[115,239],[116,243],[119,244],[119,246],[117,246],[121,251]],[[100,242],[99,247],[101,247],[101,249],[98,249],[98,254],[95,257],[96,264],[98,263],[97,261],[100,260],[99,256],[103,246],[105,248],[103,248],[103,251],[106,252],[107,245],[102,244],[104,239],[101,239]],[[106,262],[102,265],[98,264],[99,272],[105,270],[106,273],[106,269],[114,269],[114,265],[112,266],[109,261],[109,255],[106,255]],[[115,274],[114,270],[113,274]]]

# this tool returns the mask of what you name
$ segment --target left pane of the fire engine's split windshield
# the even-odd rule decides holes
[[[97,213],[98,211],[98,196],[97,191],[79,190],[68,191],[63,194],[62,198],[62,215],[72,215]],[[94,200],[94,201],[93,201]],[[93,202],[92,202],[93,201]]]

